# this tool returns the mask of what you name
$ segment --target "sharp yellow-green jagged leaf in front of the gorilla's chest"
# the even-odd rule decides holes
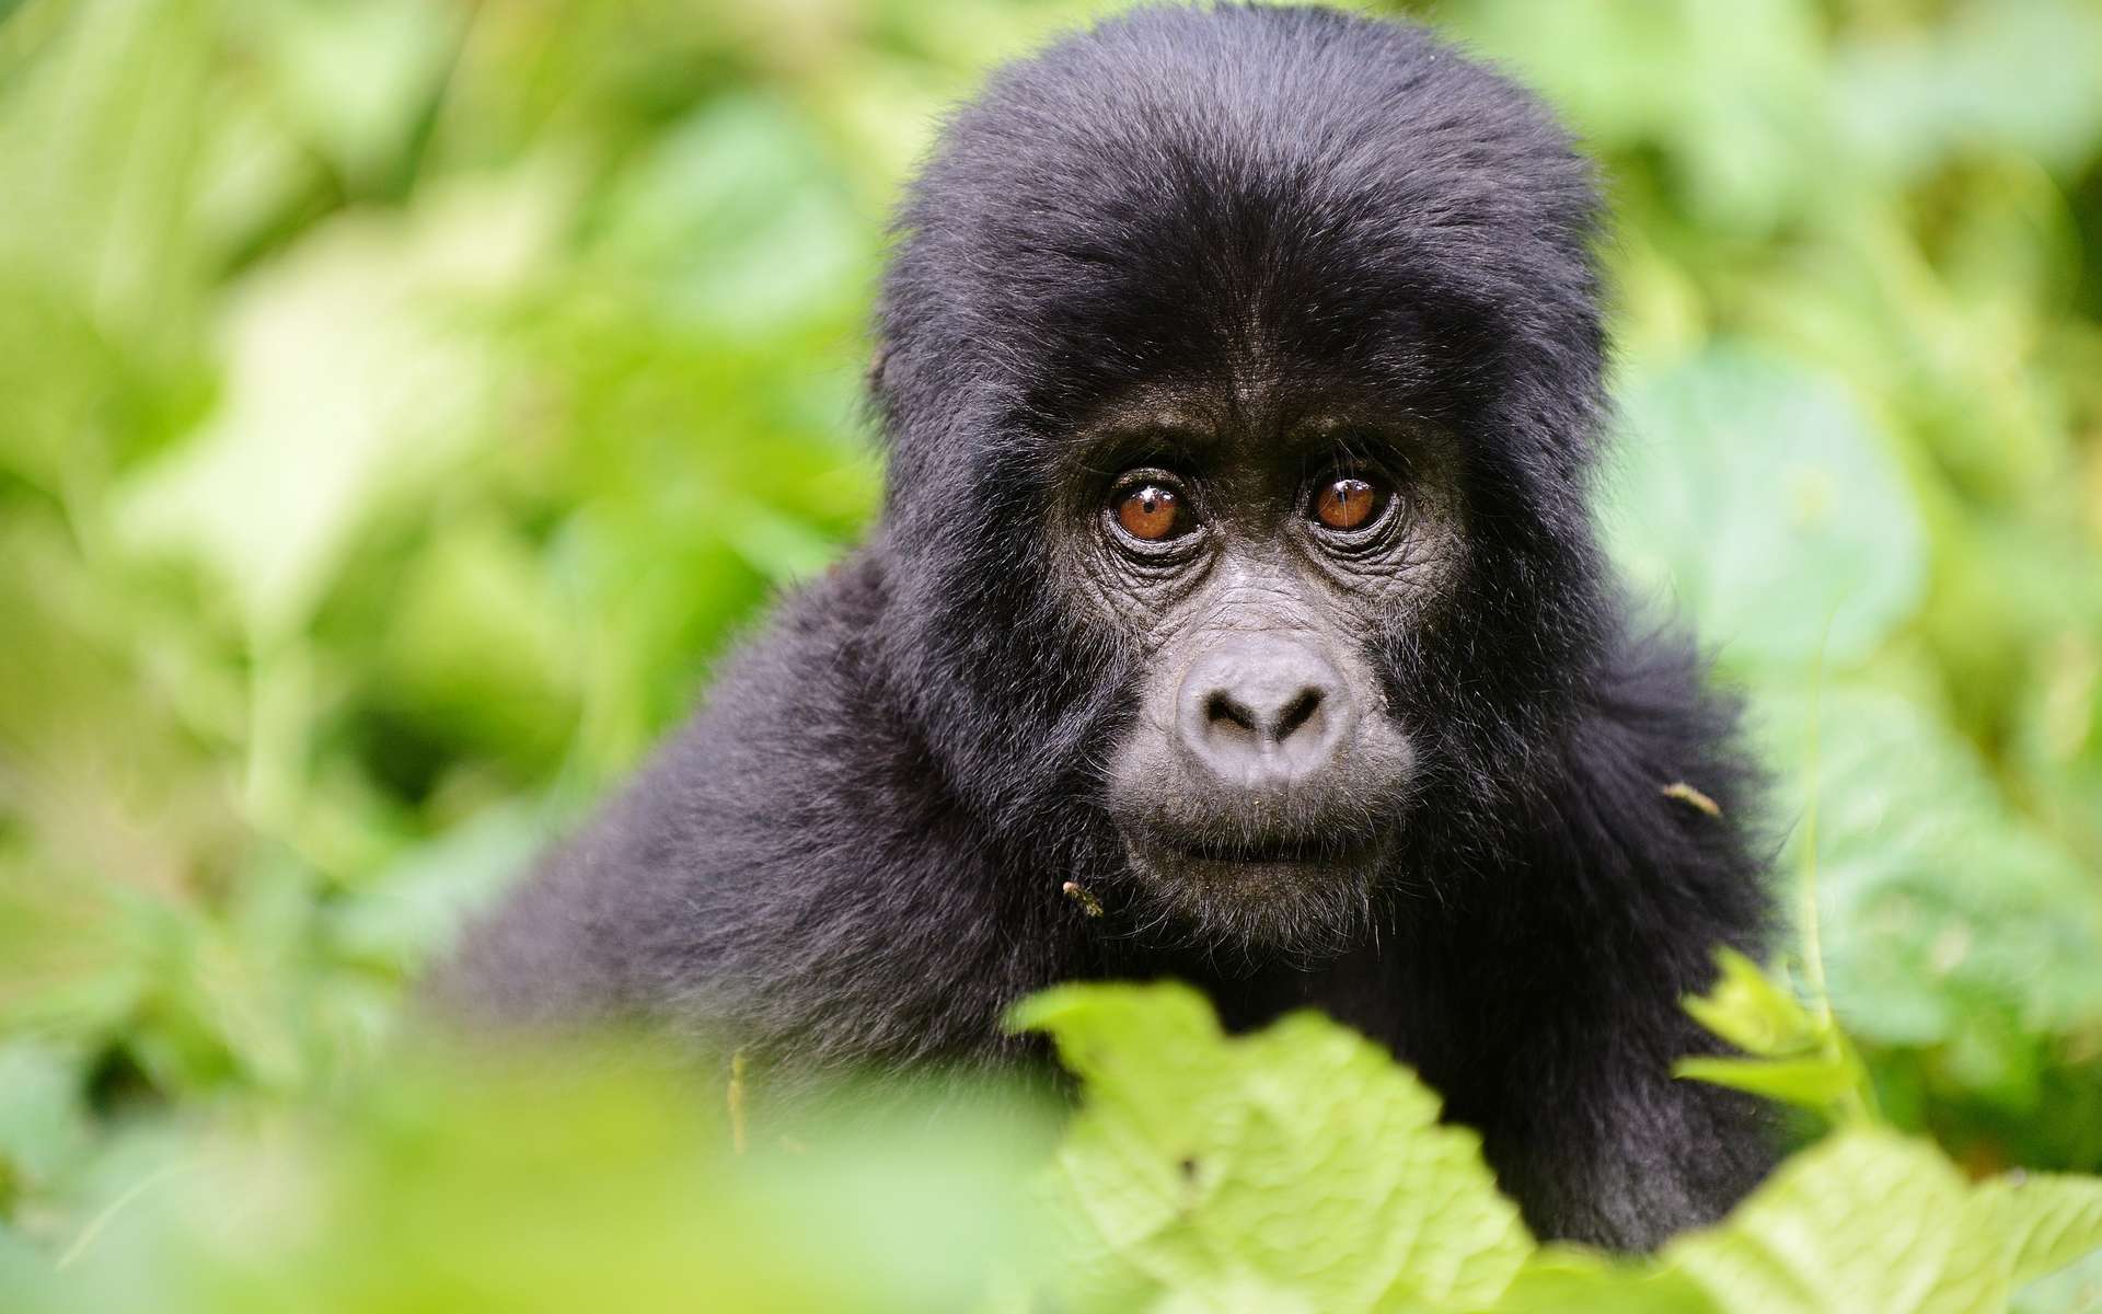
[[[1053,1194],[1080,1234],[1074,1282],[1110,1308],[1169,1289],[1190,1308],[1467,1310],[1532,1249],[1480,1137],[1335,1022],[1225,1039],[1186,986],[1064,986],[1013,1024],[1051,1032],[1087,1083]]]

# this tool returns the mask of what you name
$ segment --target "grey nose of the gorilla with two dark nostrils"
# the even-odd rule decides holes
[[[1192,662],[1175,730],[1217,778],[1276,786],[1324,767],[1354,719],[1324,656],[1297,639],[1246,635]]]

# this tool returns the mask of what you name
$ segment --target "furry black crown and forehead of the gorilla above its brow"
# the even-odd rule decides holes
[[[1415,27],[1137,11],[996,74],[912,187],[891,439],[1175,374],[1587,395],[1593,214],[1532,97]]]

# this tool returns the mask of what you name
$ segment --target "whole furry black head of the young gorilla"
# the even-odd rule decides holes
[[[1413,29],[1190,21],[1001,74],[914,183],[881,660],[1017,864],[1335,952],[1419,854],[1497,868],[1585,690],[1595,200]]]

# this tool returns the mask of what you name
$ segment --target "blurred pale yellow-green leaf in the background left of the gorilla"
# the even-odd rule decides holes
[[[462,307],[523,275],[557,206],[521,170],[336,219],[254,273],[229,296],[225,397],[126,490],[130,540],[214,568],[259,637],[305,624],[364,519],[479,435],[492,362]]]

